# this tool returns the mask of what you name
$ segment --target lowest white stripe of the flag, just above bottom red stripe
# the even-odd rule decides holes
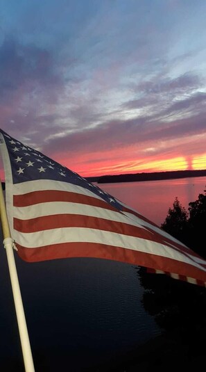
[[[15,231],[15,230],[14,230]],[[40,248],[45,245],[53,245],[58,243],[89,242],[110,245],[114,247],[126,248],[136,252],[145,252],[155,254],[157,256],[167,257],[175,261],[192,264],[206,272],[206,268],[198,265],[194,260],[185,256],[177,250],[173,252],[167,245],[148,241],[142,238],[135,238],[114,232],[101,231],[98,229],[87,229],[84,227],[65,227],[61,229],[44,230],[41,232],[21,233],[17,234],[18,243],[26,248]],[[15,238],[15,236],[14,236]],[[33,245],[32,242],[35,242]]]

